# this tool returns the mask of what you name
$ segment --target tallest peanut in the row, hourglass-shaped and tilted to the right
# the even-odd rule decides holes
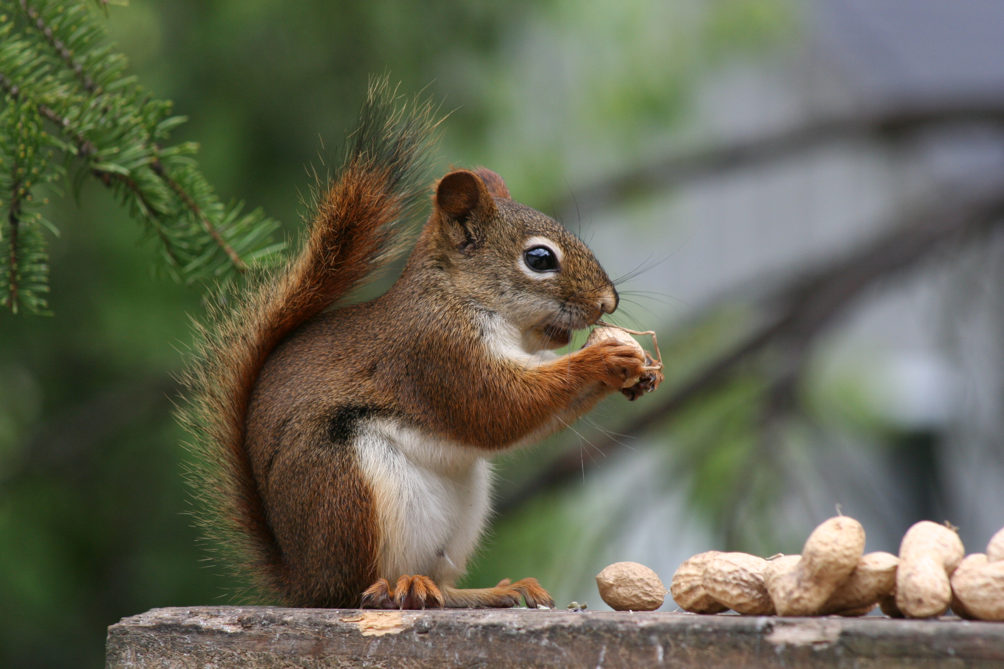
[[[857,566],[864,529],[846,516],[824,521],[805,541],[797,566],[773,579],[770,597],[779,616],[814,616]]]

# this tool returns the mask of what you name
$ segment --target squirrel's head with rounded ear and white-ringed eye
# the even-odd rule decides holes
[[[489,170],[440,180],[423,237],[447,280],[519,328],[528,349],[563,346],[572,330],[617,308],[613,284],[581,240],[514,203]]]

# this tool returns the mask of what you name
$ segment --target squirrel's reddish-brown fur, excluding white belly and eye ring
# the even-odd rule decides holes
[[[617,297],[579,240],[513,203],[484,169],[440,181],[429,222],[386,294],[321,313],[394,244],[404,196],[381,168],[349,160],[289,270],[247,301],[227,337],[211,339],[225,345],[211,349],[218,362],[196,385],[221,444],[224,474],[210,482],[230,505],[250,567],[288,605],[358,606],[364,592],[371,606],[512,606],[520,596],[553,604],[532,579],[482,590],[421,575],[401,575],[394,589],[378,580],[378,547],[394,538],[381,537],[354,430],[393,418],[488,454],[587,411],[645,361],[612,340],[543,364],[493,350],[492,322],[515,326],[524,350],[557,348],[612,312]],[[564,253],[546,280],[520,269],[535,236]]]

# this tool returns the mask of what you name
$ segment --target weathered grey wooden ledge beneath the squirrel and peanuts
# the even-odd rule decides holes
[[[1004,667],[1004,623],[675,613],[154,609],[107,669]]]

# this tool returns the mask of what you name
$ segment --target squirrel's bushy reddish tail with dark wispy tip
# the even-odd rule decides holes
[[[339,172],[314,194],[299,253],[197,324],[179,411],[192,434],[191,480],[205,534],[252,585],[280,592],[285,569],[245,448],[245,417],[265,359],[293,329],[399,255],[423,200],[435,121],[429,103],[399,105],[387,78],[370,83]]]

